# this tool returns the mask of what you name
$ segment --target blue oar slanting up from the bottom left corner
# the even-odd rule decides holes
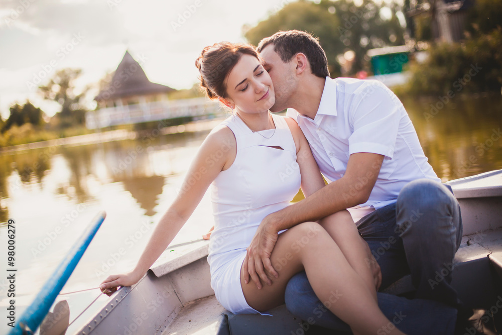
[[[57,267],[56,271],[54,271],[49,277],[49,280],[44,284],[35,300],[28,306],[23,315],[21,315],[16,322],[16,326],[11,330],[9,335],[35,333],[40,323],[44,320],[45,315],[49,312],[54,300],[56,300],[57,295],[68,281],[68,278],[70,278],[71,273],[77,266],[78,261],[82,258],[92,238],[96,235],[105,216],[106,213],[102,211],[94,217],[80,239],[73,245],[68,254],[66,254],[66,257]]]

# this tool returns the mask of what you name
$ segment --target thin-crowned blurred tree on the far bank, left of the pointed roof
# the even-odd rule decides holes
[[[85,108],[82,100],[89,86],[80,94],[75,94],[74,82],[80,74],[81,69],[61,69],[55,73],[53,78],[45,86],[39,86],[44,99],[54,100],[61,105],[61,111],[56,114],[61,128],[83,124],[85,122]]]

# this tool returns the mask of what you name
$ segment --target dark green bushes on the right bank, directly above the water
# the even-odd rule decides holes
[[[433,45],[428,60],[413,65],[410,71],[412,78],[404,91],[411,94],[444,95],[450,90],[500,92],[502,30],[480,34],[463,43]]]

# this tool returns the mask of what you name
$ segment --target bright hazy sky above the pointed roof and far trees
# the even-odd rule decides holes
[[[198,82],[205,46],[245,42],[255,26],[290,0],[0,0],[0,113],[30,99],[60,110],[37,87],[58,69],[81,68],[77,90],[114,71],[126,50],[148,78],[176,89]],[[97,88],[90,91],[90,99]],[[89,106],[92,106],[89,104]]]

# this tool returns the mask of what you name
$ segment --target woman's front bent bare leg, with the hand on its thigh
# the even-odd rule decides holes
[[[305,222],[279,235],[271,262],[279,272],[272,285],[258,289],[253,281],[240,284],[249,306],[266,311],[284,303],[286,284],[305,269],[315,294],[354,333],[375,334],[389,329],[390,321],[379,309],[361,277],[352,269],[331,236],[317,223]],[[384,328],[385,327],[385,328]],[[389,334],[402,334],[397,328]]]

